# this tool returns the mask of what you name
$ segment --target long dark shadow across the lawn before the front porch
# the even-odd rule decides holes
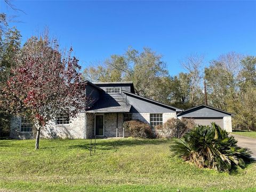
[[[133,147],[142,145],[161,145],[166,143],[167,140],[156,140],[156,139],[106,139],[106,140],[96,140],[96,148],[100,150],[113,150],[119,147]],[[92,148],[94,145],[94,140],[92,142]],[[72,145],[69,148],[81,148],[90,150],[90,143],[83,145]]]

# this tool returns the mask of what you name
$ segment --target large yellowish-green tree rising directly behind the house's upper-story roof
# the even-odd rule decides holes
[[[130,47],[123,55],[111,55],[103,64],[84,70],[84,78],[92,81],[132,81],[137,94],[158,101],[163,100],[168,76],[162,55],[147,47],[142,52]]]

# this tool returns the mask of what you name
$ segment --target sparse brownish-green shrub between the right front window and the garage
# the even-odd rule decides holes
[[[190,131],[195,126],[192,119],[168,119],[163,126],[155,126],[157,137],[172,138],[182,137],[185,133]]]

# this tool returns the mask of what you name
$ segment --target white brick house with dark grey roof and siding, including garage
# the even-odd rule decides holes
[[[57,116],[41,130],[45,138],[126,137],[123,122],[139,119],[151,128],[170,118],[195,118],[196,123],[220,123],[231,132],[231,115],[208,106],[197,106],[185,111],[135,94],[132,82],[86,82],[86,94],[93,98],[89,110],[81,111],[76,118]],[[221,120],[222,119],[222,120]],[[20,117],[12,117],[10,137],[34,138],[31,124]]]

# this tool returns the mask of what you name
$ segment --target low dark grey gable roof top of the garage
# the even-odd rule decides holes
[[[214,107],[199,105],[186,110],[183,110],[177,116],[181,117],[224,117],[233,116],[235,114],[229,113],[228,111],[223,111]]]

